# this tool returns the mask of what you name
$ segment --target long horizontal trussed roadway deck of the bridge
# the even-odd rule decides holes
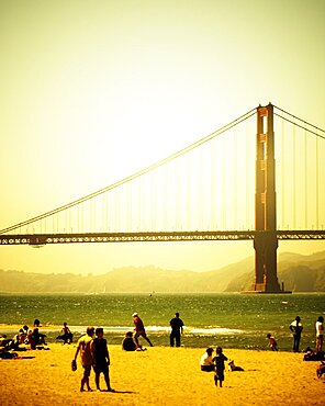
[[[258,236],[274,234],[278,239],[325,239],[325,230],[232,230],[232,232],[153,232],[153,233],[71,233],[71,234],[12,234],[0,235],[0,245],[44,246],[47,244],[80,243],[147,243],[147,241],[209,241],[254,240]]]

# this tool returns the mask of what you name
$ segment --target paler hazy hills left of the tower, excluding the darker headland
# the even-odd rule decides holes
[[[41,274],[0,270],[0,292],[222,292],[231,280],[251,269],[251,259],[208,272],[150,267],[119,268],[101,275]]]

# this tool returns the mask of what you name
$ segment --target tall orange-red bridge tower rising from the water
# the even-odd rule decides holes
[[[277,277],[277,200],[273,105],[257,108],[255,292],[280,292]]]

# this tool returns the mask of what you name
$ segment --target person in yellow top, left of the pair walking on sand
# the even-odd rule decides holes
[[[75,353],[74,361],[76,362],[77,356],[80,352],[81,365],[83,368],[83,376],[81,379],[80,392],[85,391],[85,385],[87,386],[87,390],[89,392],[92,391],[89,385],[89,376],[92,366],[92,356],[90,351],[90,345],[92,341],[93,332],[94,332],[93,327],[87,327],[87,334],[85,336],[81,336],[77,342],[77,350]]]

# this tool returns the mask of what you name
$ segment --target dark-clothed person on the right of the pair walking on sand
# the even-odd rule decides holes
[[[100,391],[100,374],[101,372],[104,375],[108,392],[114,392],[111,388],[110,383],[110,373],[109,373],[109,365],[110,365],[110,354],[108,350],[108,342],[103,338],[104,330],[102,327],[98,327],[94,331],[96,338],[90,343],[90,351],[93,360],[93,370],[94,370],[94,382],[96,387]]]

